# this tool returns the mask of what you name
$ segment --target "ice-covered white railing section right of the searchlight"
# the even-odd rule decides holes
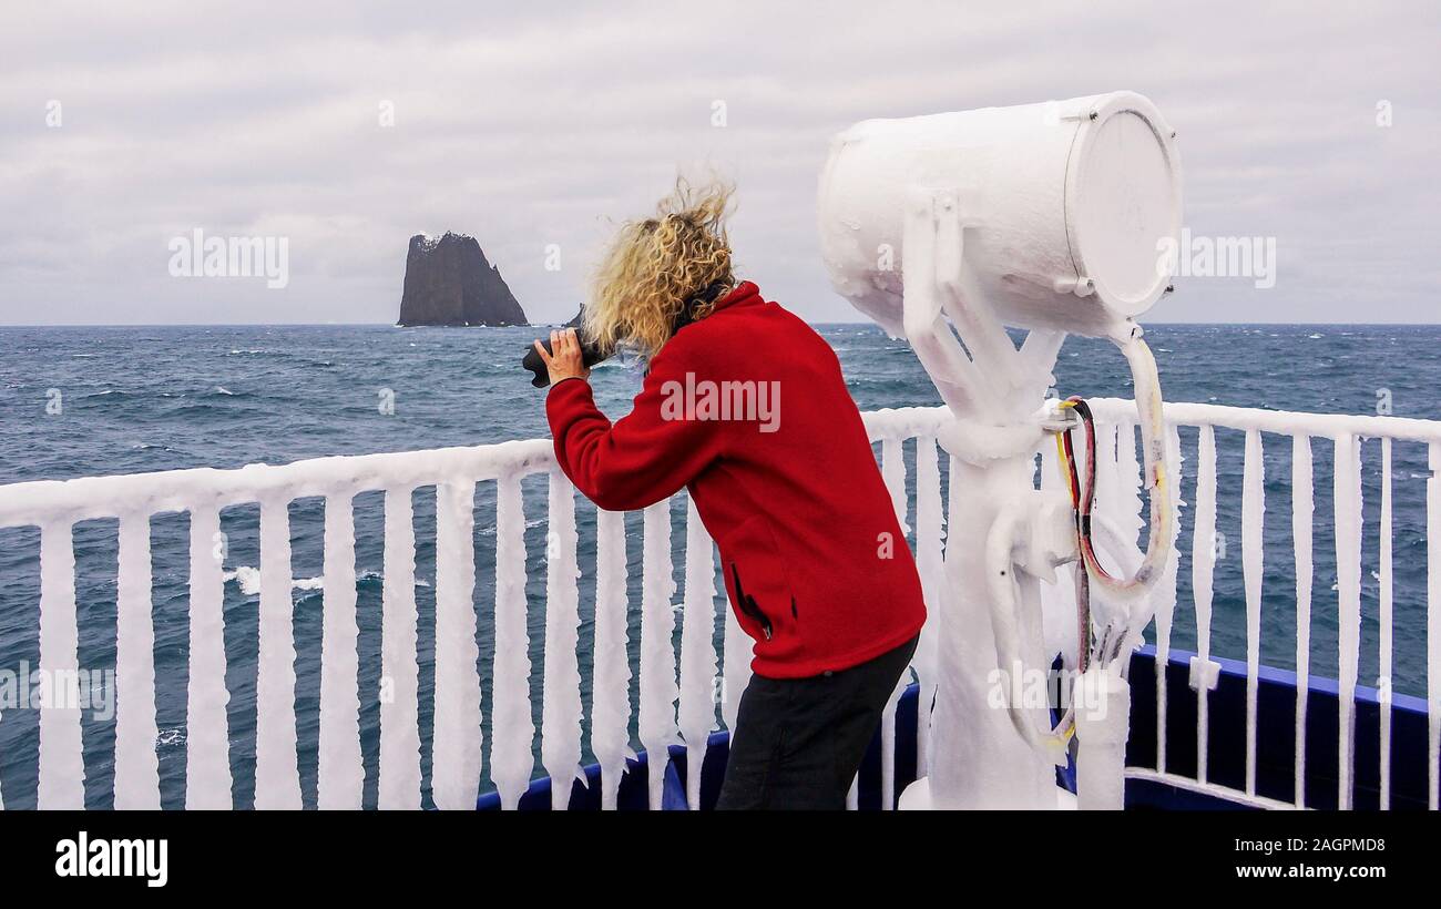
[[[1092,409],[1098,424],[1102,424],[1101,454],[1098,454],[1098,470],[1111,471],[1111,488],[1123,500],[1138,488],[1136,475],[1134,445],[1117,445],[1130,431],[1134,439],[1136,405],[1131,400],[1094,400]],[[1261,674],[1261,644],[1262,644],[1262,605],[1268,611],[1284,609],[1287,601],[1294,596],[1295,604],[1295,638],[1294,663],[1297,673],[1295,684],[1295,749],[1294,749],[1294,805],[1306,807],[1306,787],[1300,781],[1306,779],[1307,761],[1307,697],[1308,681],[1311,679],[1310,666],[1314,655],[1313,647],[1313,606],[1334,605],[1336,615],[1336,644],[1337,653],[1337,683],[1339,683],[1339,729],[1337,729],[1337,800],[1340,808],[1350,808],[1355,797],[1355,755],[1356,742],[1356,697],[1359,684],[1359,667],[1362,660],[1362,581],[1363,581],[1363,509],[1362,509],[1362,441],[1379,441],[1379,481],[1380,507],[1376,527],[1376,569],[1378,609],[1373,617],[1378,624],[1378,677],[1382,709],[1379,710],[1379,805],[1391,805],[1391,764],[1392,764],[1392,713],[1389,710],[1393,655],[1395,655],[1395,572],[1393,572],[1393,449],[1396,444],[1424,447],[1425,470],[1428,474],[1414,474],[1425,477],[1425,526],[1421,529],[1425,536],[1425,572],[1427,591],[1417,599],[1425,604],[1425,704],[1428,719],[1427,735],[1427,800],[1429,808],[1437,808],[1438,782],[1438,743],[1441,743],[1441,478],[1434,471],[1441,468],[1441,422],[1402,419],[1395,416],[1347,416],[1330,413],[1295,413],[1281,411],[1261,411],[1228,408],[1200,403],[1172,403],[1166,406],[1166,422],[1170,429],[1167,445],[1169,468],[1172,477],[1173,504],[1180,504],[1182,474],[1193,473],[1195,480],[1187,483],[1187,488],[1195,491],[1190,503],[1192,517],[1189,526],[1189,547],[1185,540],[1183,524],[1177,521],[1177,547],[1173,553],[1172,565],[1156,594],[1156,625],[1154,644],[1157,663],[1164,664],[1170,655],[1172,632],[1176,619],[1176,581],[1179,562],[1189,555],[1192,604],[1195,609],[1196,657],[1192,661],[1192,689],[1196,690],[1196,781],[1202,788],[1223,789],[1208,778],[1208,752],[1210,722],[1208,717],[1209,683],[1215,676],[1216,666],[1212,660],[1212,621],[1213,621],[1213,579],[1218,559],[1216,514],[1218,500],[1223,493],[1235,493],[1232,488],[1218,487],[1218,429],[1233,431],[1244,435],[1244,467],[1241,477],[1241,560],[1245,596],[1245,667],[1246,667],[1246,722],[1245,722],[1245,797],[1259,805],[1275,807],[1274,800],[1261,797],[1257,792],[1257,696]],[[1196,460],[1190,465],[1183,465],[1180,458],[1182,428],[1195,431]],[[1294,591],[1265,589],[1267,547],[1264,545],[1264,513],[1265,513],[1265,461],[1264,439],[1267,436],[1282,436],[1282,457],[1290,454],[1290,471],[1287,475],[1291,490],[1291,537],[1294,552]],[[1107,441],[1111,448],[1107,449]],[[1330,565],[1336,570],[1334,594],[1316,589],[1317,552],[1314,552],[1314,519],[1316,514],[1316,468],[1313,462],[1313,447],[1330,449],[1331,467],[1331,540],[1334,553]],[[1102,485],[1105,481],[1102,480]],[[1128,503],[1112,503],[1118,513],[1130,511]],[[1321,520],[1326,516],[1320,516]],[[1274,550],[1272,550],[1274,552]],[[1324,578],[1324,575],[1321,575]],[[1229,655],[1229,654],[1228,654]],[[1330,654],[1327,654],[1330,655]],[[1209,677],[1209,679],[1208,679]],[[1157,673],[1156,707],[1157,707],[1157,742],[1156,742],[1156,774],[1161,778],[1172,778],[1167,774],[1167,716],[1166,686],[1163,674]]]

